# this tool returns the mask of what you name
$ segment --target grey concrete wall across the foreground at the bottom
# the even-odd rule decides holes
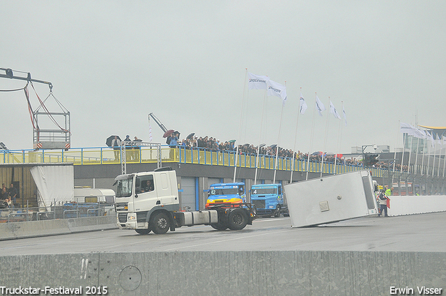
[[[101,252],[1,256],[0,281],[3,294],[106,286],[112,296],[392,295],[392,287],[420,295],[417,287],[446,288],[445,266],[445,252]]]

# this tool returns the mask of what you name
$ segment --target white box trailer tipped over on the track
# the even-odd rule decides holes
[[[369,171],[284,185],[292,227],[314,226],[378,213]]]

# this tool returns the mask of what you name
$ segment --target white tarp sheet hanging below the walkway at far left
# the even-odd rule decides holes
[[[38,189],[39,206],[48,206],[53,201],[72,201],[75,188],[72,165],[33,166],[30,171]]]

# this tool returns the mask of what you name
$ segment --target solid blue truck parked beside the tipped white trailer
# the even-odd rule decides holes
[[[279,217],[288,214],[284,203],[282,184],[258,184],[251,187],[251,203],[256,207],[258,216]]]

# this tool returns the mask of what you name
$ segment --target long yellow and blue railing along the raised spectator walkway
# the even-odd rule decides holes
[[[36,163],[72,163],[74,165],[94,164],[121,164],[122,151],[115,154],[116,150],[109,147],[70,148],[70,150],[2,150],[0,151],[0,164],[36,164]],[[160,150],[150,147],[132,147],[125,150],[125,162],[127,164],[157,163],[158,157],[162,162],[179,162],[185,164],[203,164],[213,166],[238,166],[246,168],[275,169],[275,155],[256,155],[240,153],[236,157],[236,151],[213,152],[204,148],[170,148],[165,145]],[[160,155],[158,155],[160,153]],[[236,164],[237,159],[237,164]],[[294,164],[293,164],[294,162]],[[307,167],[308,166],[308,167]],[[284,171],[309,171],[310,173],[347,173],[364,169],[362,165],[336,164],[307,159],[293,159],[291,157],[278,157],[277,169]],[[412,166],[411,166],[412,168]],[[367,167],[373,176],[383,177],[389,174],[388,169]],[[429,168],[425,168],[426,171]],[[441,168],[440,170],[442,170]],[[413,169],[411,169],[413,171]],[[417,171],[422,169],[417,168]],[[443,171],[442,171],[443,173]],[[392,176],[408,178],[406,171],[393,171]]]

